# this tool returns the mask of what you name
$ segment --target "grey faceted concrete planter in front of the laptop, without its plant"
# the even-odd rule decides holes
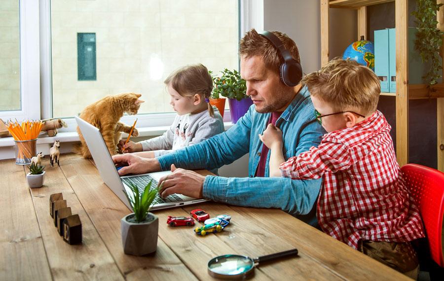
[[[143,256],[157,249],[157,234],[159,220],[156,215],[148,212],[148,221],[131,222],[134,213],[122,218],[120,221],[122,231],[122,244],[125,254]]]

